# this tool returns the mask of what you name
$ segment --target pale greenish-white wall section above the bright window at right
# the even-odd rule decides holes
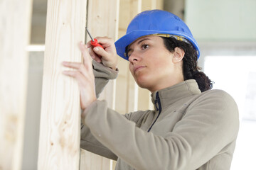
[[[185,21],[198,40],[256,40],[255,0],[186,0]]]

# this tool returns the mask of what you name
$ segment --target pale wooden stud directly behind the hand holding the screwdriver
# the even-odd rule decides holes
[[[100,5],[99,5],[100,4]],[[107,36],[117,39],[119,0],[101,1],[90,0],[88,4],[87,28],[90,33],[96,36]],[[87,35],[87,40],[90,38]],[[110,108],[114,108],[114,81],[107,84],[100,99],[107,100]]]

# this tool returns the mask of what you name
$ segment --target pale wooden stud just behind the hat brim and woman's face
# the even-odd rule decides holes
[[[122,37],[137,13],[142,11],[142,0],[120,0],[119,38]],[[137,110],[138,86],[129,72],[129,62],[119,59],[119,77],[117,78],[116,110],[129,113]],[[124,89],[126,89],[124,91]]]

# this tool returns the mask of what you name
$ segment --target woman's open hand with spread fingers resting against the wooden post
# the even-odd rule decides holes
[[[80,89],[80,106],[82,110],[84,110],[90,103],[96,101],[97,98],[95,94],[95,77],[92,72],[92,60],[87,45],[80,42],[79,47],[82,52],[83,62],[63,62],[65,67],[74,69],[64,71],[63,74],[74,77],[78,81]]]

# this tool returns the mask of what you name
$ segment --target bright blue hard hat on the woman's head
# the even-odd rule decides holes
[[[200,50],[198,43],[193,38],[186,23],[173,13],[159,9],[144,11],[134,17],[131,23],[129,23],[127,33],[114,43],[117,49],[117,55],[128,60],[126,55],[126,47],[128,45],[142,36],[157,34],[174,35],[174,38],[177,40],[190,42],[199,58]]]

